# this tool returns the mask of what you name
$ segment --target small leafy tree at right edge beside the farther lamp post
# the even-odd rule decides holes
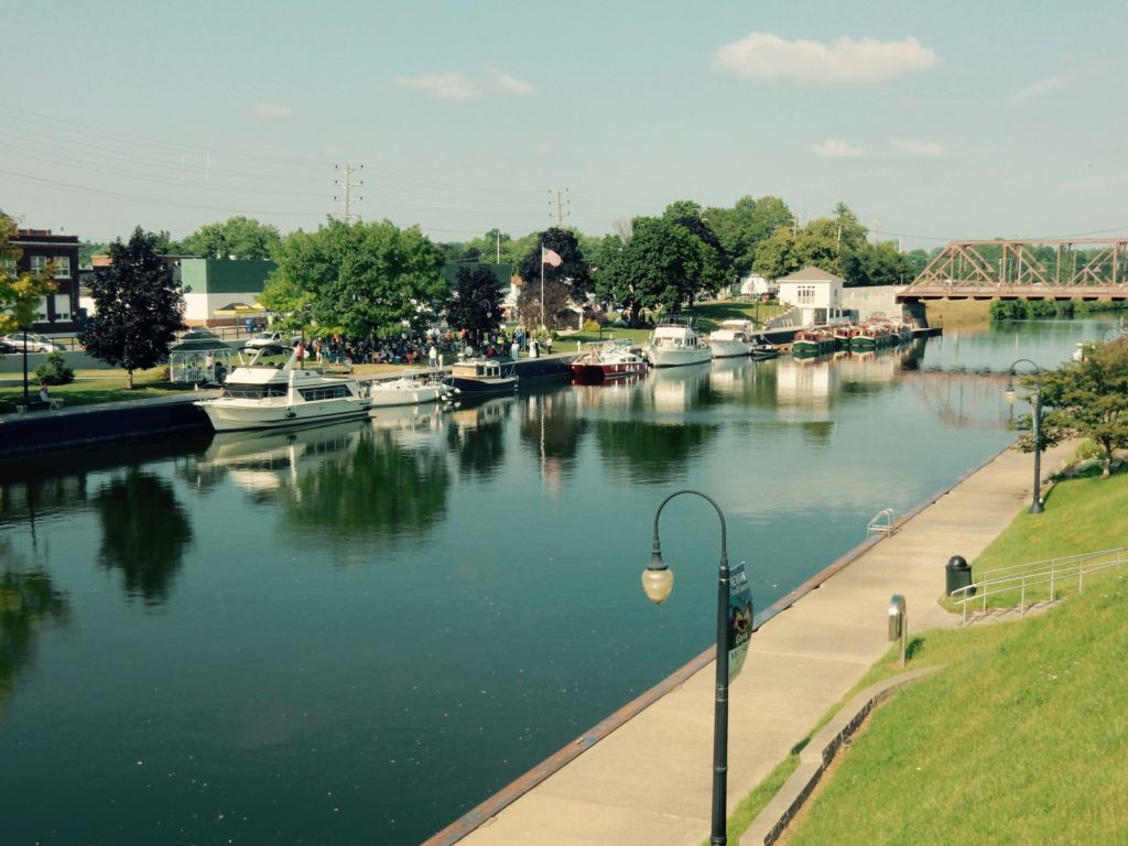
[[[1102,475],[1108,476],[1116,450],[1128,449],[1128,338],[1093,344],[1082,361],[1043,372],[1039,381],[1049,408],[1042,415],[1042,447],[1091,438],[1104,452]],[[1033,443],[1024,448],[1030,451]]]

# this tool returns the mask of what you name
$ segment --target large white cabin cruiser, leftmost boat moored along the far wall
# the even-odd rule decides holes
[[[365,417],[371,400],[351,376],[303,368],[301,346],[281,367],[263,363],[270,347],[256,350],[223,380],[220,396],[194,403],[217,432],[281,429]]]

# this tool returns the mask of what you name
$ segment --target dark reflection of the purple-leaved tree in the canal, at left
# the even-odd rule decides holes
[[[121,571],[126,594],[148,605],[164,602],[192,543],[192,525],[171,485],[130,467],[100,487],[91,502],[102,520],[98,564]]]

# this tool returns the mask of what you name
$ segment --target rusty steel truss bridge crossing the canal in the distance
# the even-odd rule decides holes
[[[909,303],[1019,298],[1128,298],[1128,238],[951,241],[897,294]]]

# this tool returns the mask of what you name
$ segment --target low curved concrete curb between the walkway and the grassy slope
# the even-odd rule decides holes
[[[803,747],[799,754],[799,767],[779,788],[775,799],[768,802],[752,820],[741,836],[741,843],[764,844],[764,846],[776,843],[810,799],[843,743],[865,722],[873,707],[900,686],[931,676],[940,669],[942,668],[924,667],[879,681],[846,703],[835,717],[811,738],[811,742]]]

